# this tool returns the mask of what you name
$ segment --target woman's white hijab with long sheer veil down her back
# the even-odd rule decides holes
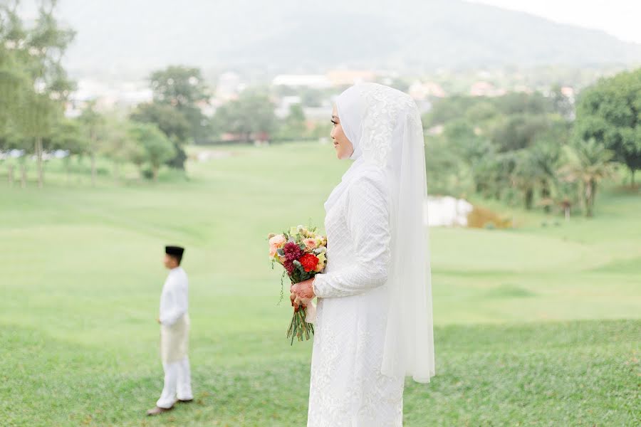
[[[429,236],[424,226],[427,196],[423,129],[415,102],[405,93],[375,83],[355,85],[336,101],[355,160],[336,186],[329,211],[349,184],[369,167],[385,169],[390,189],[392,262],[390,306],[382,373],[429,382],[434,376],[432,284]]]

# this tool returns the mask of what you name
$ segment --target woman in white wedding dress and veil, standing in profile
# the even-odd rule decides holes
[[[291,287],[294,305],[318,297],[308,426],[402,426],[405,376],[434,376],[420,116],[366,83],[338,97],[332,122],[354,162],[325,202],[325,273]]]

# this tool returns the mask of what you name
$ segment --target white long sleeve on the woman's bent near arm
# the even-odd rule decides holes
[[[384,186],[379,179],[362,176],[348,191],[346,221],[356,262],[349,267],[316,275],[313,286],[318,297],[356,295],[387,281],[390,212]]]

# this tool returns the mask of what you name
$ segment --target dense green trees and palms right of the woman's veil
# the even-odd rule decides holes
[[[618,165],[641,169],[641,70],[602,79],[576,105],[561,88],[450,97],[423,117],[431,191],[593,216]]]

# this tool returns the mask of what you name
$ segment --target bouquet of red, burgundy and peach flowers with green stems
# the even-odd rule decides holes
[[[284,297],[284,280],[287,276],[292,284],[304,282],[322,273],[327,265],[327,238],[316,233],[317,228],[303,226],[292,227],[282,234],[271,233],[269,238],[269,257],[271,267],[278,263],[283,265],[281,278],[281,301]],[[314,333],[314,327],[306,322],[306,307],[294,309],[287,337],[298,341],[309,339]]]

